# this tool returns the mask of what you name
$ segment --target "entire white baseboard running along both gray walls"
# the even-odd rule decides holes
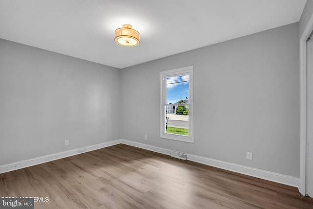
[[[120,144],[120,143],[134,146],[134,147],[138,147],[138,148],[142,148],[142,149],[146,149],[146,150],[150,150],[150,151],[165,154],[165,155],[171,155],[171,151],[172,151],[170,149],[156,147],[156,146],[152,146],[152,145],[148,145],[148,144],[144,144],[144,143],[139,143],[139,142],[135,142],[135,141],[125,140],[125,139],[117,139],[117,140],[112,140],[112,141],[108,141],[108,142],[104,142],[104,143],[100,143],[100,144],[95,144],[95,145],[91,145],[91,146],[87,146],[87,147],[68,150],[65,152],[59,152],[59,153],[55,153],[55,154],[51,154],[51,155],[45,155],[42,157],[24,160],[24,161],[20,161],[20,162],[16,162],[16,163],[9,163],[9,164],[5,164],[5,165],[0,165],[0,173],[5,173],[5,172],[9,172],[9,171],[13,171],[13,170],[17,170],[17,169],[21,169],[21,168],[25,168],[25,167],[29,167],[29,166],[41,164],[41,163],[46,163],[46,162],[58,160],[61,158],[66,158],[69,156],[77,155],[77,154],[84,153],[84,152],[89,152],[89,151],[96,150],[96,149],[105,148],[105,147]],[[177,151],[179,151],[179,150],[177,150]],[[239,165],[239,164],[235,164],[235,163],[228,163],[228,162],[224,162],[224,161],[214,160],[214,159],[201,157],[201,156],[197,156],[197,155],[192,155],[192,154],[188,154],[188,153],[187,153],[187,160],[197,162],[197,163],[206,164],[206,165],[210,165],[210,166],[214,166],[214,167],[218,167],[218,168],[222,168],[222,169],[229,170],[229,171],[234,171],[234,172],[245,174],[248,176],[257,177],[260,179],[269,180],[272,182],[277,182],[277,183],[284,184],[284,185],[289,185],[289,186],[294,186],[294,187],[299,186],[299,181],[300,181],[299,178],[287,176],[284,174],[274,173],[274,172],[261,170],[261,169],[257,169],[257,168],[252,168],[252,167],[247,167],[247,166]]]

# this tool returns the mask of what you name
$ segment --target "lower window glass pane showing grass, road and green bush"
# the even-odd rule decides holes
[[[178,110],[178,112],[177,112]],[[165,133],[188,136],[189,115],[188,106],[166,105],[165,106]],[[180,112],[182,114],[180,114]]]

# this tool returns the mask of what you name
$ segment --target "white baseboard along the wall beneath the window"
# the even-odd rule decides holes
[[[165,155],[171,155],[170,153],[172,151],[169,149],[151,146],[148,144],[138,143],[138,142],[129,141],[125,139],[121,139],[121,143],[139,147],[139,148],[146,149],[146,150],[150,150],[150,151],[154,151],[154,152],[158,152],[158,153],[162,153]],[[187,153],[187,160],[201,163],[201,164],[210,165],[213,167],[222,168],[222,169],[229,170],[229,171],[234,171],[236,173],[253,176],[253,177],[260,178],[260,179],[265,179],[265,180],[272,181],[272,182],[277,182],[277,183],[284,184],[284,185],[294,186],[294,187],[298,187],[299,181],[300,181],[300,179],[296,177],[287,176],[284,174],[274,173],[274,172],[261,170],[257,168],[252,168],[252,167],[239,165],[235,163],[228,163],[228,162],[201,157],[197,155],[192,155],[188,153]]]

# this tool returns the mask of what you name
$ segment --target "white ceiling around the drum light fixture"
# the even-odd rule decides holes
[[[126,68],[298,22],[306,0],[0,0],[0,38]],[[114,42],[132,24],[140,45]]]

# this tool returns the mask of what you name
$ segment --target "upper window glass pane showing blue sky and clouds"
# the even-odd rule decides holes
[[[189,75],[166,78],[166,103],[189,103]]]

